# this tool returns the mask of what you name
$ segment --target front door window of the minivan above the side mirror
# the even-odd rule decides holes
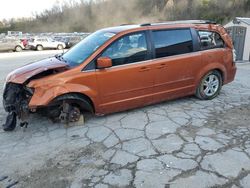
[[[110,57],[113,66],[147,60],[147,43],[144,33],[126,35],[109,46],[102,57]]]

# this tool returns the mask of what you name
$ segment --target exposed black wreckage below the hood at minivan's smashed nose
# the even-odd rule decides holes
[[[29,101],[33,95],[33,90],[22,84],[8,82],[3,93],[3,106],[8,117],[3,125],[4,130],[11,131],[16,127],[16,117],[21,120],[20,125],[26,125],[25,120],[29,115]]]

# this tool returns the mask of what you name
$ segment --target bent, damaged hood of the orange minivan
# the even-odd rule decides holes
[[[25,81],[30,79],[31,77],[48,71],[48,70],[56,70],[60,68],[66,68],[68,64],[58,60],[55,57],[44,59],[41,61],[37,61],[34,63],[27,64],[23,67],[20,67],[14,71],[12,71],[6,78],[6,82],[23,84]]]

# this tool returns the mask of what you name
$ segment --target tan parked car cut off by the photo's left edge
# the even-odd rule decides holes
[[[22,42],[18,39],[6,39],[0,40],[0,51],[15,51],[21,52],[24,49]]]

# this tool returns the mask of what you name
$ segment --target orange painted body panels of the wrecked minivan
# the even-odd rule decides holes
[[[98,58],[104,49],[124,35],[139,31],[176,28],[217,32],[224,40],[225,47],[84,71],[84,68]],[[29,102],[30,109],[47,106],[54,98],[63,94],[81,93],[91,99],[96,114],[107,114],[193,95],[201,78],[211,70],[221,72],[223,84],[234,79],[236,67],[233,63],[232,41],[224,28],[219,25],[162,24],[129,29],[116,27],[106,30],[115,31],[116,35],[79,66],[33,79],[28,83],[28,87],[35,89]],[[117,32],[117,30],[119,31]],[[56,59],[44,61],[47,61],[45,64],[48,69],[65,68],[65,64]],[[99,62],[104,67],[107,67],[109,63],[109,59],[105,58]],[[15,71],[9,75],[8,82],[24,83],[27,77],[31,77],[30,74],[35,75],[39,72],[41,67],[38,64],[37,66]]]

